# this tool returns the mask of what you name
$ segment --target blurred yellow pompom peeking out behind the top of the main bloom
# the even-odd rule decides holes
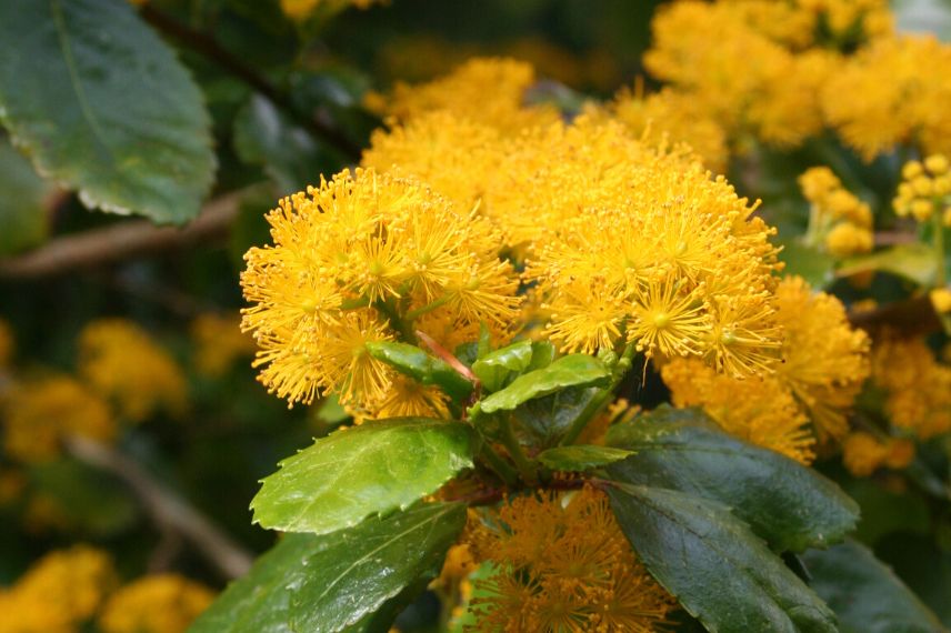
[[[434,110],[483,123],[500,132],[547,125],[560,120],[553,105],[525,103],[535,82],[534,69],[523,61],[476,58],[450,74],[419,86],[397,83],[389,112],[401,121]]]

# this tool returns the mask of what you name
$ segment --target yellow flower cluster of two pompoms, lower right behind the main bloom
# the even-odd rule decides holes
[[[782,362],[773,374],[737,380],[697,362],[673,361],[661,370],[677,406],[703,406],[727,432],[802,463],[820,441],[848,432],[847,413],[869,375],[869,339],[852,329],[842,304],[812,293],[798,277],[775,290],[782,328]]]

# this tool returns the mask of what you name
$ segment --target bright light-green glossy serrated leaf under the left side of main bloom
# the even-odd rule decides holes
[[[251,502],[254,522],[323,534],[406,509],[472,466],[459,422],[399,418],[343,429],[280,463]]]

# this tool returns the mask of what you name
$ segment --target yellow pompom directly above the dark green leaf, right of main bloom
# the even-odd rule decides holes
[[[815,459],[809,420],[775,376],[741,380],[687,359],[664,364],[661,375],[675,406],[702,406],[731,435],[800,463]]]

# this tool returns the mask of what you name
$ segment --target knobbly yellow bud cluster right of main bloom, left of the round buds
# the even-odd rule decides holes
[[[828,167],[813,167],[799,177],[799,187],[810,203],[809,245],[824,245],[831,254],[844,258],[872,250],[872,211],[842,187]]]

